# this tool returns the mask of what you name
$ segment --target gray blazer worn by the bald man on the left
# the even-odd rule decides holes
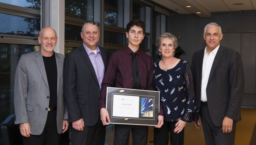
[[[55,53],[55,52],[54,52]],[[55,53],[57,79],[57,128],[62,132],[63,119],[68,110],[63,98],[64,55]],[[32,135],[40,135],[46,123],[50,95],[41,50],[21,56],[15,74],[14,109],[15,124],[29,123]]]

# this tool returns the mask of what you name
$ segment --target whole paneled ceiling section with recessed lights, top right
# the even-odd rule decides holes
[[[211,17],[212,12],[256,10],[256,0],[152,0],[179,14],[196,14]],[[243,5],[233,5],[243,3]],[[186,6],[191,6],[187,8]]]

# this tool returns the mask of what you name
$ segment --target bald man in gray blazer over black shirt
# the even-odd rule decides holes
[[[15,124],[20,124],[24,145],[58,145],[68,129],[63,98],[64,56],[54,52],[58,37],[44,28],[41,49],[21,56],[15,75]]]

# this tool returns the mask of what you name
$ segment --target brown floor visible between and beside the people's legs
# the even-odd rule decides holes
[[[256,109],[241,109],[242,121],[236,124],[235,145],[256,145]],[[202,125],[196,129],[192,123],[185,126],[184,145],[205,145]],[[154,145],[154,127],[148,128],[148,145]],[[109,145],[114,142],[114,129],[112,127],[106,130],[106,139]],[[132,135],[130,135],[129,145],[132,145]],[[168,143],[170,145],[170,141]]]

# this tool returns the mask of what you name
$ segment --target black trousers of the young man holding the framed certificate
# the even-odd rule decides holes
[[[128,145],[132,130],[132,145],[147,145],[148,126],[115,124],[114,145]]]

